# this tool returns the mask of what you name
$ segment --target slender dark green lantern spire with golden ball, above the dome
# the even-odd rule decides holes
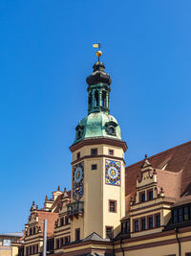
[[[98,61],[93,66],[93,73],[86,79],[88,83],[88,114],[95,112],[110,113],[110,75],[105,72],[103,62],[99,61],[101,51],[96,52]]]

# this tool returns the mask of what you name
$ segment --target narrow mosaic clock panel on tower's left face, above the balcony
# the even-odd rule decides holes
[[[73,167],[73,198],[79,200],[83,197],[84,191],[84,162]]]

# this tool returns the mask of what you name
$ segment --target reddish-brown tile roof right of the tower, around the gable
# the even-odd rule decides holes
[[[158,172],[159,185],[166,188],[167,194],[173,198],[179,198],[185,193],[191,193],[191,141],[159,152],[148,158],[153,168],[164,170]],[[140,175],[141,165],[144,160],[126,167],[125,172],[125,195],[128,196],[136,190],[136,182]],[[171,175],[173,173],[174,175]],[[177,173],[177,176],[175,175]],[[169,186],[170,184],[170,186]],[[172,186],[176,184],[176,190]],[[178,187],[177,187],[178,186]],[[164,190],[165,190],[164,188]],[[179,191],[179,192],[178,192]]]

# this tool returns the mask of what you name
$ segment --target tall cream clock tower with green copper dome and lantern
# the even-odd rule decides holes
[[[112,238],[125,216],[126,143],[117,119],[110,115],[111,78],[96,61],[87,78],[88,116],[75,128],[72,162],[72,200],[68,205],[72,242],[96,232]]]

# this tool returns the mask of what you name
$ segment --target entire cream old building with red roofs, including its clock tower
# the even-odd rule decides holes
[[[127,145],[110,114],[101,61],[87,78],[88,115],[75,128],[71,191],[32,203],[19,256],[191,256],[191,142],[125,167]],[[21,254],[23,253],[23,254]]]

